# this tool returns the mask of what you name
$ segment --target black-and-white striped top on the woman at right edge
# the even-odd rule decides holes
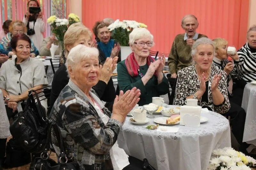
[[[242,62],[243,79],[246,82],[256,81],[256,52],[252,52],[248,42],[238,51],[238,56]]]

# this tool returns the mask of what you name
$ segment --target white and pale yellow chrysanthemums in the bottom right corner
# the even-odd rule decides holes
[[[212,152],[207,170],[251,170],[250,166],[255,165],[256,160],[252,157],[245,156],[231,147],[225,147]]]

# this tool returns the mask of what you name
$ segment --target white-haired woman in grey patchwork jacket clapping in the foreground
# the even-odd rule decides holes
[[[116,145],[126,115],[140,100],[137,88],[125,93],[121,91],[120,96],[116,96],[111,115],[92,89],[100,77],[98,56],[97,48],[77,45],[70,50],[66,61],[70,79],[56,100],[58,105],[51,111],[52,120],[62,131],[65,150],[81,169],[95,169],[96,166],[96,169],[113,169],[115,160],[111,155],[108,158],[110,150],[125,155],[118,145],[112,146]],[[57,146],[54,147],[58,152]],[[129,164],[127,156],[122,159]]]

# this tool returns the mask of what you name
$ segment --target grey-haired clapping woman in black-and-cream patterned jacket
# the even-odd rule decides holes
[[[184,105],[186,99],[197,99],[198,105],[220,114],[230,109],[227,74],[212,66],[215,47],[208,38],[200,38],[192,46],[195,65],[178,71],[175,105]]]

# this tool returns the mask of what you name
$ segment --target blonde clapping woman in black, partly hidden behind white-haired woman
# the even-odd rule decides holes
[[[64,48],[66,50],[65,57],[68,56],[69,51],[82,44],[90,47],[92,43],[92,33],[82,23],[74,23],[68,27],[67,32],[64,35]],[[93,86],[93,89],[99,95],[99,98],[103,101],[113,101],[115,99],[115,87],[111,79],[111,74],[116,68],[117,57],[108,58],[101,68],[100,80]],[[55,100],[60,94],[60,91],[68,84],[69,77],[65,64],[62,64],[60,68],[55,72],[52,80],[52,92],[50,98],[50,106],[52,107]]]

